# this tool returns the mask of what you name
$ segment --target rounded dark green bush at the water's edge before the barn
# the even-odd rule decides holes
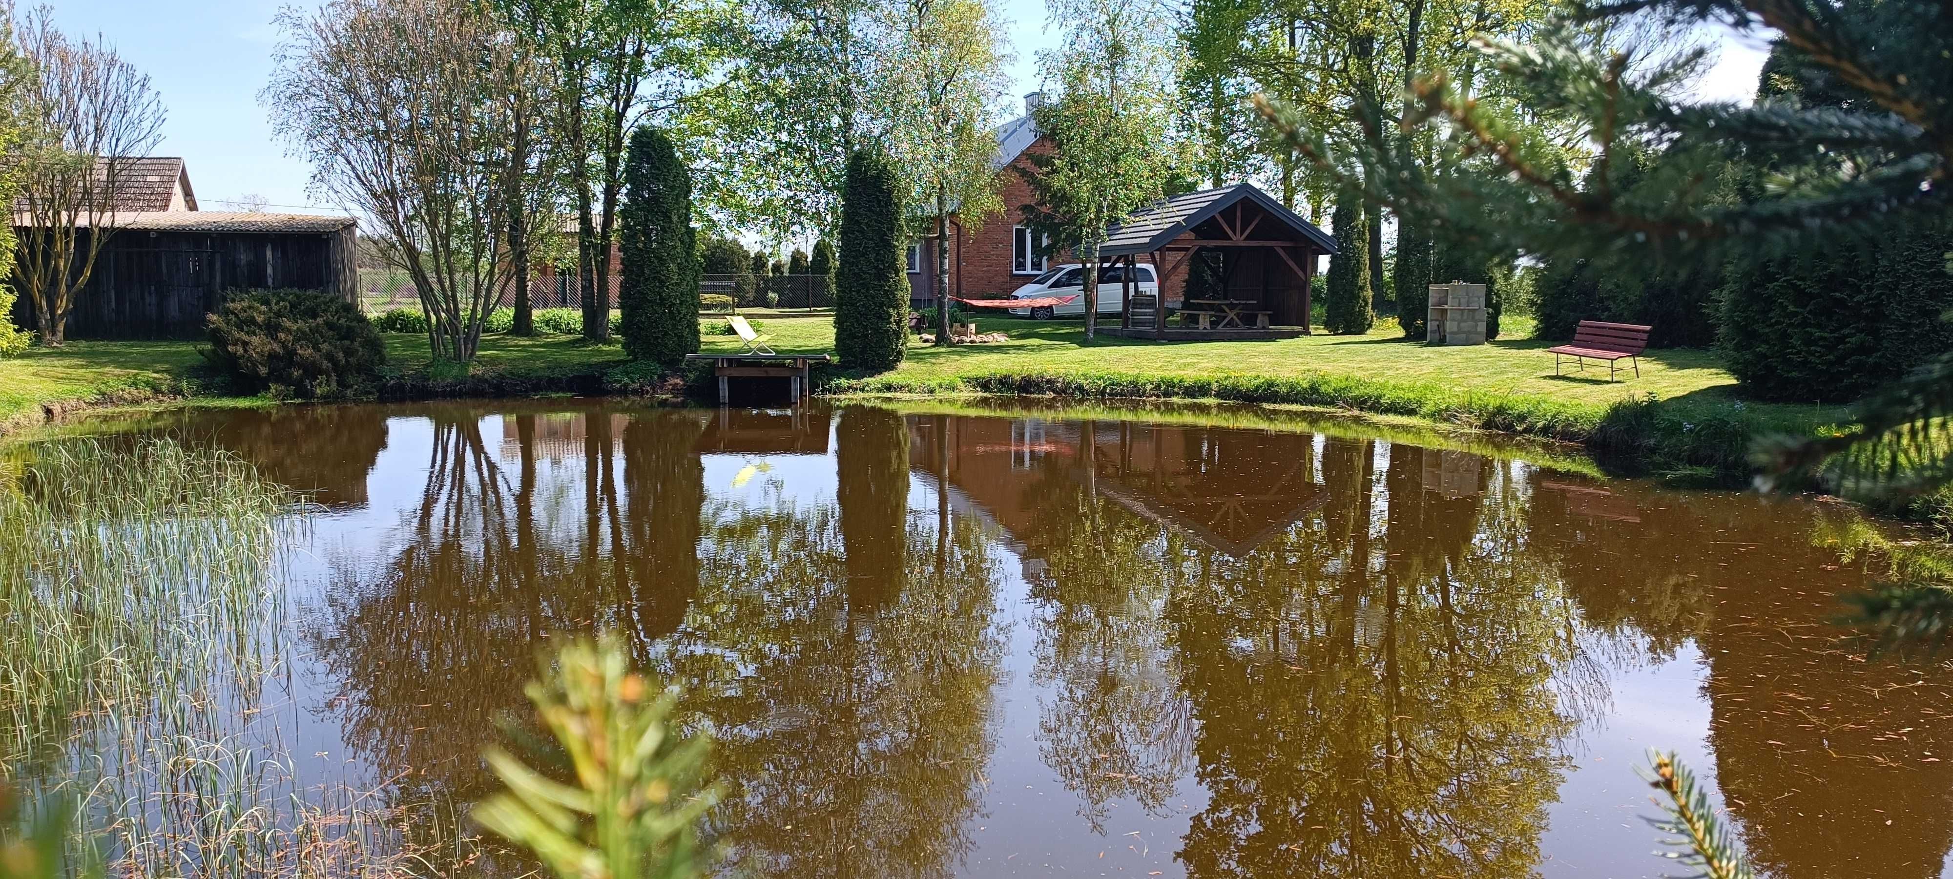
[[[207,318],[205,357],[254,393],[344,397],[387,361],[387,346],[359,309],[305,289],[232,293]]]

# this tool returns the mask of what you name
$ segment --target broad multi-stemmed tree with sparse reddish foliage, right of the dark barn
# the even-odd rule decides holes
[[[506,96],[537,88],[535,70],[471,0],[332,0],[279,23],[273,121],[312,186],[379,227],[434,356],[471,361],[514,272],[508,178],[521,168]]]

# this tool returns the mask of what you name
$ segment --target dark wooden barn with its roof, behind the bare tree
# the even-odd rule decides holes
[[[68,338],[197,338],[234,289],[316,289],[357,301],[352,217],[197,211],[180,158],[123,158],[115,232],[68,314]],[[33,234],[16,213],[16,232]],[[82,232],[86,234],[86,232]],[[78,242],[86,246],[86,242]],[[37,328],[27,297],[14,324]]]

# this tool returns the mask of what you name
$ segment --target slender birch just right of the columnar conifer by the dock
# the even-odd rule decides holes
[[[976,229],[1002,211],[994,129],[1010,49],[988,0],[902,0],[891,10],[889,135],[912,215],[935,238],[935,344],[949,344],[949,219]]]

